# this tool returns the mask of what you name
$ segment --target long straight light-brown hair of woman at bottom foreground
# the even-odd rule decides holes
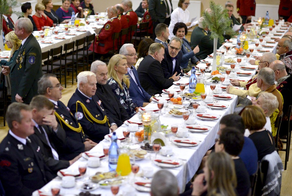
[[[237,187],[237,178],[235,173],[234,161],[226,152],[211,153],[207,159],[207,168],[209,171],[208,196],[210,195],[228,195],[236,196],[234,188]],[[211,171],[214,177],[211,177]]]

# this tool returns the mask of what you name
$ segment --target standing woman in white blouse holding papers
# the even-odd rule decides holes
[[[170,21],[170,25],[168,27],[169,29],[169,37],[168,39],[171,39],[172,37],[174,37],[175,35],[173,34],[173,27],[177,22],[183,22],[188,26],[191,25],[189,21],[189,17],[190,17],[190,12],[187,10],[187,7],[190,5],[190,0],[179,0],[178,1],[178,8],[176,8],[175,10],[173,10],[173,12],[171,13],[171,21]]]

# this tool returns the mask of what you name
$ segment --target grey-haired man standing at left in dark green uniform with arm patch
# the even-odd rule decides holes
[[[22,43],[13,63],[3,66],[3,74],[10,73],[11,101],[29,103],[37,94],[37,81],[43,75],[41,70],[41,47],[32,34],[33,26],[29,18],[19,18],[15,22],[15,34]]]

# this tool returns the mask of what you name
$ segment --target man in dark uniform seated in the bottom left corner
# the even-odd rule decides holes
[[[41,155],[29,105],[12,103],[6,112],[9,132],[0,144],[0,179],[6,195],[27,196],[54,177]],[[31,136],[28,138],[28,136]]]

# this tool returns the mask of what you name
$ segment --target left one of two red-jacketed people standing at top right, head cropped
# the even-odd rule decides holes
[[[241,16],[242,24],[251,22],[251,16],[256,13],[256,0],[237,0],[237,14]]]

